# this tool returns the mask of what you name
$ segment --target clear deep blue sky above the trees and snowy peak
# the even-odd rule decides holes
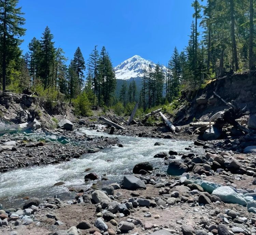
[[[104,45],[116,66],[135,54],[166,64],[188,42],[192,0],[20,0],[27,29],[22,49],[45,27],[69,59],[77,46],[87,60]]]

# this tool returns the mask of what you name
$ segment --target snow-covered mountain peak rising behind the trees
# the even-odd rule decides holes
[[[152,65],[152,69],[156,66],[156,63],[153,61],[135,55],[114,67],[116,79],[130,80],[132,78],[142,78],[144,76],[143,69],[145,67],[147,69],[150,64]],[[161,65],[161,67],[165,73],[166,67],[163,65]]]

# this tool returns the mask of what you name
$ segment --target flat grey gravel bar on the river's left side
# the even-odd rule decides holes
[[[40,129],[33,133],[5,134],[0,137],[0,172],[70,161],[117,143],[117,138],[90,137],[81,126],[74,131],[60,129],[49,133]]]

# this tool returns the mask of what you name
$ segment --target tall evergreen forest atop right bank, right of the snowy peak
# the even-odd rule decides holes
[[[159,64],[144,68],[142,89],[137,91],[144,110],[171,103],[182,90],[195,95],[207,81],[227,72],[255,69],[255,0],[195,0],[192,7],[184,50],[174,48],[166,71]],[[120,100],[125,106],[130,95],[124,95],[124,86]]]

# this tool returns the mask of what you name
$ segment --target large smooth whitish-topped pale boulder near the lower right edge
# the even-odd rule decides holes
[[[234,203],[242,206],[246,206],[247,202],[238,193],[228,186],[221,186],[213,190],[212,195],[217,196],[223,202]]]

